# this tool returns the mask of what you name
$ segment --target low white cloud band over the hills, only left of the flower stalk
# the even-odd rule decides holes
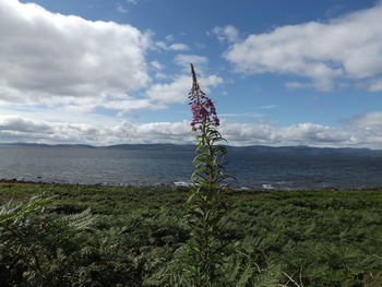
[[[40,121],[0,116],[2,142],[86,143],[108,145],[120,143],[179,143],[191,142],[193,134],[188,122],[154,122],[112,125]]]

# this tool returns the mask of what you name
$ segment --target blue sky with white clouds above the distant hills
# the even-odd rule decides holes
[[[0,143],[382,150],[382,1],[0,0]]]

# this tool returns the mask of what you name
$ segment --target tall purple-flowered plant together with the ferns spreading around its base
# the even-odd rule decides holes
[[[174,260],[154,278],[166,287],[275,287],[278,265],[260,270],[259,265],[225,236],[227,178],[224,158],[227,151],[219,131],[215,105],[201,89],[191,64],[191,129],[196,132],[195,167],[191,194],[186,203],[186,218],[191,229],[189,242],[176,252]],[[284,285],[283,285],[284,286]]]

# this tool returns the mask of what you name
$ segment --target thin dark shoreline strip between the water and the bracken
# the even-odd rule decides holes
[[[33,181],[22,180],[17,178],[12,179],[0,179],[0,184],[34,184],[34,186],[62,186],[62,187],[112,187],[112,188],[154,188],[154,189],[188,189],[186,184],[172,184],[158,183],[158,184],[111,184],[111,183],[65,183],[65,182],[47,182],[47,181]],[[186,182],[184,182],[186,183]],[[370,187],[370,188],[336,188],[327,187],[323,189],[254,189],[254,188],[232,188],[231,191],[382,191],[382,187]]]

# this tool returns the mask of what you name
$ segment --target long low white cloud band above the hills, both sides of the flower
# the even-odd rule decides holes
[[[222,121],[220,131],[230,145],[309,145],[330,147],[381,148],[382,112],[359,116],[342,129],[315,123],[276,128],[272,122],[229,123]],[[366,125],[365,125],[366,124]],[[366,128],[367,127],[367,128]],[[182,122],[57,122],[19,116],[0,116],[2,142],[87,143],[194,143],[190,123]]]

